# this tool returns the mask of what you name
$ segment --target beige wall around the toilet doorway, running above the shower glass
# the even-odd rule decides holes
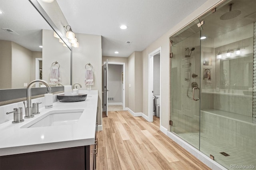
[[[164,128],[169,129],[170,120],[170,46],[169,37],[204,14],[206,11],[212,9],[219,2],[224,0],[208,0],[197,10],[192,12],[189,16],[184,18],[181,22],[171,28],[158,40],[146,47],[142,51],[142,66],[143,66],[143,111],[148,115],[148,54],[161,47],[161,124]],[[170,21],[171,22],[171,21]]]

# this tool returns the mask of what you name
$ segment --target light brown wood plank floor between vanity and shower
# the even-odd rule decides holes
[[[210,170],[159,129],[128,111],[108,112],[98,131],[98,170]]]

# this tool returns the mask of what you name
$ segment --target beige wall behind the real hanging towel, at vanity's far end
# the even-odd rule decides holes
[[[79,42],[79,48],[72,49],[72,82],[80,83],[83,90],[87,90],[84,84],[85,65],[91,63],[94,73],[94,85],[92,90],[98,90],[98,125],[102,125],[102,47],[101,36],[75,33]],[[78,87],[80,88],[80,87]]]

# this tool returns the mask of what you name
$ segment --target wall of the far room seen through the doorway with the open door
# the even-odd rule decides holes
[[[122,65],[108,65],[108,97],[114,97],[108,103],[122,103],[122,72]]]

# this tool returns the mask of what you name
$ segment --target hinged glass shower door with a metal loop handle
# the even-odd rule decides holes
[[[171,51],[171,132],[199,149],[200,30]]]

